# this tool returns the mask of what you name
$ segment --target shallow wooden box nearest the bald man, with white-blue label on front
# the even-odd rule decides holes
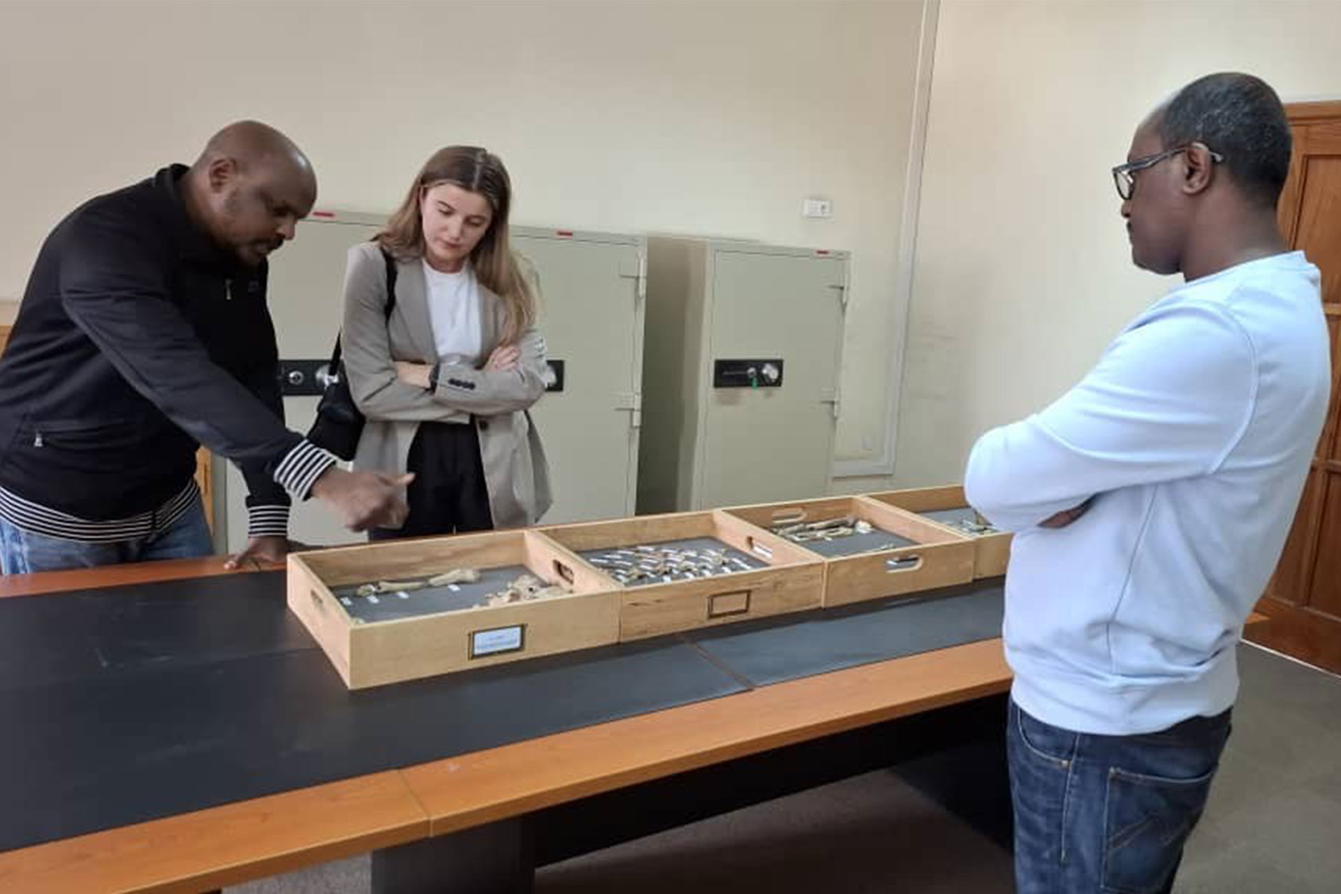
[[[488,575],[491,568],[514,566],[547,583],[565,583],[573,592],[375,622],[351,617],[333,592],[357,583],[424,578],[453,567]],[[396,604],[394,594],[380,598]],[[602,646],[620,635],[620,594],[614,584],[534,531],[291,554],[288,607],[350,689]]]

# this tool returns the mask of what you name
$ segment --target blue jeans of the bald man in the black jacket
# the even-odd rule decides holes
[[[94,568],[123,562],[193,559],[208,556],[213,551],[209,525],[205,524],[205,508],[198,500],[168,528],[154,531],[146,537],[113,543],[50,537],[23,531],[0,519],[0,570],[4,574]]]

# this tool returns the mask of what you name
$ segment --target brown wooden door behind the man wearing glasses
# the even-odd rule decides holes
[[[1275,576],[1248,639],[1341,673],[1341,102],[1286,107],[1294,131],[1281,231],[1322,271],[1332,403]]]

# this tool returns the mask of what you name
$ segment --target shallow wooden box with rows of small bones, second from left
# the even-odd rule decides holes
[[[579,560],[583,552],[711,537],[762,563],[763,567],[750,571],[642,586],[624,586],[606,578],[621,591],[621,641],[805,611],[818,609],[823,600],[822,560],[721,509],[566,524],[540,531],[579,554]],[[605,576],[594,566],[590,570]]]

